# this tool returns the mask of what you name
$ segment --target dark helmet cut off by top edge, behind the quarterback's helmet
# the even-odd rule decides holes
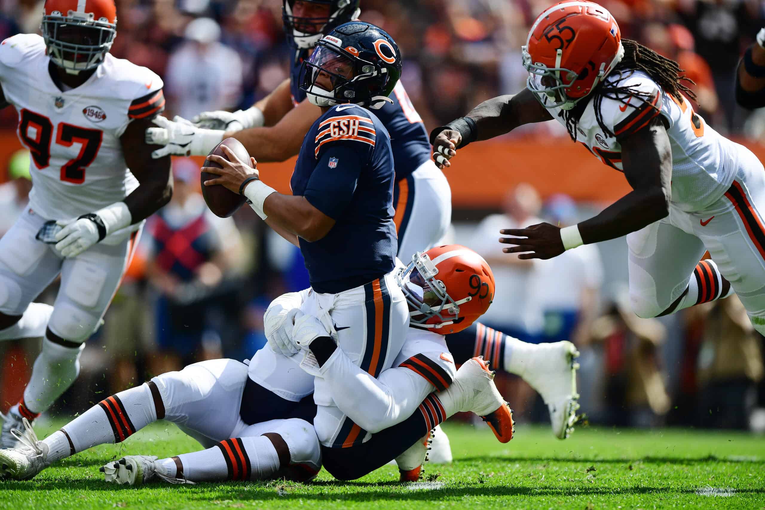
[[[287,41],[297,48],[314,47],[333,28],[359,17],[360,0],[282,0]]]

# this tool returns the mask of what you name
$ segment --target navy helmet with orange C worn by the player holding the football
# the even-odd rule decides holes
[[[328,77],[332,89],[317,84]],[[386,31],[364,21],[341,24],[303,62],[300,88],[316,106],[343,102],[379,109],[401,77],[401,52]]]

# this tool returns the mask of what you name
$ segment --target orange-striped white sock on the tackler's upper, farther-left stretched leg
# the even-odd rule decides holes
[[[157,411],[146,383],[105,398],[50,434],[43,443],[50,450],[48,459],[54,462],[99,444],[122,442],[154,421]]]

